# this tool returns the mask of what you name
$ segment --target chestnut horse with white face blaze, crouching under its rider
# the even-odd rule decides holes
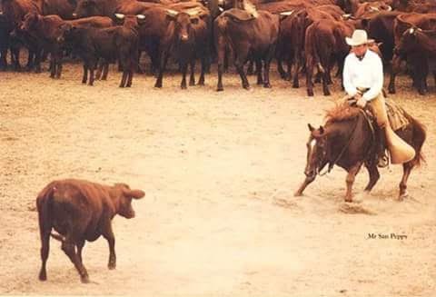
[[[425,127],[410,114],[404,112],[404,115],[409,124],[395,133],[411,144],[416,154],[410,162],[402,164],[399,199],[407,196],[407,180],[411,169],[423,161],[421,147],[426,138]],[[315,129],[308,124],[311,135],[307,142],[307,163],[304,170],[306,178],[294,195],[301,196],[306,186],[313,182],[327,164],[329,172],[334,164],[348,172],[346,202],[352,202],[352,183],[362,164],[370,174],[370,181],[365,187],[365,191],[370,192],[380,178],[376,160],[378,140],[374,132],[377,124],[371,124],[370,121],[362,109],[339,105],[327,114],[324,126]]]

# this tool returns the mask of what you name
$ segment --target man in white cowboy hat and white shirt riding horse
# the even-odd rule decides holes
[[[351,38],[345,37],[345,41],[352,46],[352,53],[347,55],[343,65],[343,86],[348,99],[352,99],[358,107],[364,108],[367,104],[371,107],[379,126],[376,129],[378,166],[385,167],[388,164],[384,145],[385,127],[389,123],[382,94],[383,64],[378,54],[368,50],[368,44],[374,41],[368,39],[366,31],[355,30]]]

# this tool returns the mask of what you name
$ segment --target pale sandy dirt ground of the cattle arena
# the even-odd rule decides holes
[[[131,89],[118,88],[114,71],[94,87],[81,75],[80,64],[64,65],[61,80],[0,73],[0,294],[436,296],[433,80],[420,96],[403,76],[391,96],[428,128],[427,164],[411,173],[409,198],[396,201],[402,169],[391,165],[366,197],[362,170],[349,205],[338,167],[293,197],[307,123],[322,123],[342,95],[337,83],[332,96],[317,85],[308,98],[275,66],[272,89],[252,76],[245,91],[225,74],[222,93],[214,69],[186,91],[179,74],[164,77],[162,90],[150,75],[135,76]],[[90,284],[54,240],[48,280],[37,278],[35,197],[67,177],[146,192],[134,219],[114,219],[116,270],[103,238],[85,245]]]

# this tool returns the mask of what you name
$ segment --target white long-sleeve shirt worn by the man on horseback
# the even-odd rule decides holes
[[[350,96],[357,94],[357,88],[369,88],[362,97],[371,101],[381,93],[383,87],[383,64],[378,54],[367,50],[362,61],[356,54],[348,54],[343,65],[343,86]]]

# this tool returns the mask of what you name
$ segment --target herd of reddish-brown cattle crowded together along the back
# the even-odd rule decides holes
[[[345,36],[357,28],[367,30],[381,46],[383,62],[390,65],[390,93],[395,93],[402,61],[413,86],[420,94],[427,92],[429,72],[436,79],[431,63],[436,60],[435,0],[0,0],[0,69],[21,70],[24,46],[25,69],[40,72],[43,57],[49,56],[54,78],[61,75],[65,54],[80,57],[84,84],[104,79],[108,64],[118,61],[124,87],[132,85],[134,72],[142,71],[139,59],[145,52],[157,74],[156,87],[162,87],[172,57],[183,74],[182,88],[188,66],[189,84],[195,84],[195,60],[201,61],[198,84],[204,84],[204,74],[216,61],[221,91],[229,57],[244,88],[250,87],[243,70],[247,61],[249,70],[256,66],[257,83],[271,87],[269,69],[275,57],[282,78],[292,76],[292,87],[299,87],[304,70],[307,94],[313,95],[317,70],[328,95],[332,67],[337,65],[341,74],[350,51]]]

